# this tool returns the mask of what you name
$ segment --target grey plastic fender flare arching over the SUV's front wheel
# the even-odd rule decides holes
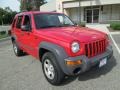
[[[44,41],[44,42],[41,42],[39,44],[39,50],[40,50],[40,48],[44,48],[44,49],[52,52],[55,55],[56,61],[57,61],[58,65],[61,67],[62,71],[64,73],[69,72],[66,69],[67,67],[66,67],[66,64],[65,64],[65,58],[68,58],[68,55],[65,52],[63,47]]]

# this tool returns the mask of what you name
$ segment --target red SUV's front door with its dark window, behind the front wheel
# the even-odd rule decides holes
[[[36,50],[36,37],[34,35],[34,30],[32,28],[32,19],[31,15],[24,15],[23,19],[23,26],[29,26],[30,30],[29,31],[23,31],[21,32],[21,42],[23,44],[24,50],[33,55],[37,56],[37,50]]]

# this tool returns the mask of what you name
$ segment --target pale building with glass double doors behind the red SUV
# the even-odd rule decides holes
[[[51,0],[41,11],[62,12],[75,22],[120,21],[120,0]]]

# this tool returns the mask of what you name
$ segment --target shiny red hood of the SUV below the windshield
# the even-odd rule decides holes
[[[90,42],[105,38],[103,32],[86,27],[57,27],[40,31],[43,31],[45,36],[66,42],[74,40],[79,42]]]

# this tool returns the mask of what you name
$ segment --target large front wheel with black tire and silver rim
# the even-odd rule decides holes
[[[52,85],[60,85],[64,80],[65,74],[57,64],[55,56],[47,52],[42,57],[42,70],[47,81]]]

